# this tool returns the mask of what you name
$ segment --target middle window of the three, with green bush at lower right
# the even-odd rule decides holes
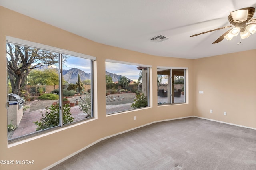
[[[148,67],[106,62],[106,114],[149,106]]]

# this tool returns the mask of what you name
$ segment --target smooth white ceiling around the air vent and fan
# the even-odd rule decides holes
[[[212,44],[228,28],[229,12],[255,0],[0,0],[4,6],[98,43],[157,56],[196,59],[256,49],[256,34]],[[256,14],[254,14],[254,17]],[[162,34],[169,40],[150,38]]]

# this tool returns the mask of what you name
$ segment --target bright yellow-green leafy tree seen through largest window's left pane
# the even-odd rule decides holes
[[[58,85],[59,75],[54,69],[32,70],[28,76],[30,85]]]

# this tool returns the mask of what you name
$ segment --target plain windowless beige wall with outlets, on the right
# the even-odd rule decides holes
[[[194,115],[256,128],[255,73],[256,49],[194,60]]]

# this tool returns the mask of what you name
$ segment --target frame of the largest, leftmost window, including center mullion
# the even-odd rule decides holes
[[[8,139],[8,144],[9,143],[12,143],[12,142],[16,142],[16,141],[19,141],[19,140],[23,140],[23,139],[26,139],[26,138],[31,138],[33,136],[38,136],[42,133],[46,133],[46,132],[50,132],[52,130],[57,130],[59,128],[62,128],[62,127],[66,127],[68,125],[74,125],[76,123],[80,123],[81,121],[86,121],[88,119],[92,119],[94,118],[94,73],[93,73],[93,65],[94,65],[94,61],[96,61],[96,57],[93,57],[93,56],[90,56],[90,55],[86,55],[86,54],[82,54],[82,53],[77,53],[77,52],[74,52],[74,51],[69,51],[69,50],[66,50],[66,49],[60,49],[60,48],[57,48],[57,47],[52,47],[52,46],[49,46],[49,45],[44,45],[44,44],[40,44],[40,43],[36,43],[36,42],[30,42],[30,41],[27,41],[27,40],[22,40],[22,39],[19,39],[19,38],[14,38],[14,37],[11,37],[11,36],[6,36],[6,43],[12,43],[14,45],[22,45],[22,46],[26,46],[26,47],[32,47],[32,48],[36,48],[36,49],[41,49],[41,50],[45,50],[45,51],[50,51],[50,52],[54,52],[54,53],[58,53],[59,54],[59,61],[58,61],[58,65],[59,65],[59,68],[58,68],[58,74],[59,74],[59,87],[62,87],[62,55],[70,55],[72,57],[80,57],[80,58],[83,58],[83,59],[89,59],[90,60],[90,73],[91,73],[91,117],[87,118],[87,119],[81,119],[81,120],[78,120],[78,121],[74,121],[72,123],[68,123],[68,124],[63,124],[63,112],[62,112],[62,90],[59,91],[59,125],[55,126],[55,127],[51,127],[51,128],[46,128],[44,130],[40,130],[40,131],[36,131],[36,132],[32,132],[30,134],[25,134],[25,135],[22,135],[22,136],[18,136],[16,138],[13,138],[13,139]],[[8,114],[8,112],[7,112]]]

